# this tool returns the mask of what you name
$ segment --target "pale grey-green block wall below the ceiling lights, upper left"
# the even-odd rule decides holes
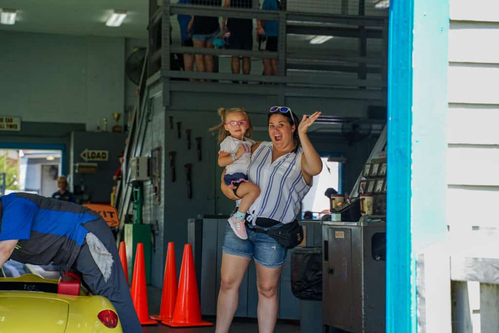
[[[135,88],[124,87],[126,46],[145,41],[1,31],[0,43],[3,115],[83,123],[92,131],[107,117],[110,130],[111,113],[134,100]]]

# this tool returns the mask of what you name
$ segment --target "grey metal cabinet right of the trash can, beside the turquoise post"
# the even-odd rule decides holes
[[[386,224],[322,224],[323,323],[354,333],[385,332]]]

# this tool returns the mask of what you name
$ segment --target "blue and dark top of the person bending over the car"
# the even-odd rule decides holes
[[[0,197],[0,241],[18,239],[11,259],[34,265],[64,265],[78,256],[88,230],[100,215],[86,207],[29,193]]]

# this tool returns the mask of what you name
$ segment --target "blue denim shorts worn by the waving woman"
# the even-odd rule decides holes
[[[281,224],[278,224],[270,228],[260,229],[278,229],[281,226]],[[253,226],[252,228],[259,227]],[[284,259],[286,258],[287,249],[280,246],[272,237],[267,234],[254,232],[251,230],[252,228],[246,227],[248,239],[244,240],[234,235],[234,231],[232,231],[231,226],[227,223],[224,246],[222,247],[223,253],[253,258],[256,263],[268,268],[278,268],[282,266]]]

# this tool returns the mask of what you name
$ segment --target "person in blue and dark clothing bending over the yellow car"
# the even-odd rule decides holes
[[[76,269],[116,309],[123,332],[142,332],[110,228],[86,207],[30,193],[0,197],[0,268],[23,264]]]

